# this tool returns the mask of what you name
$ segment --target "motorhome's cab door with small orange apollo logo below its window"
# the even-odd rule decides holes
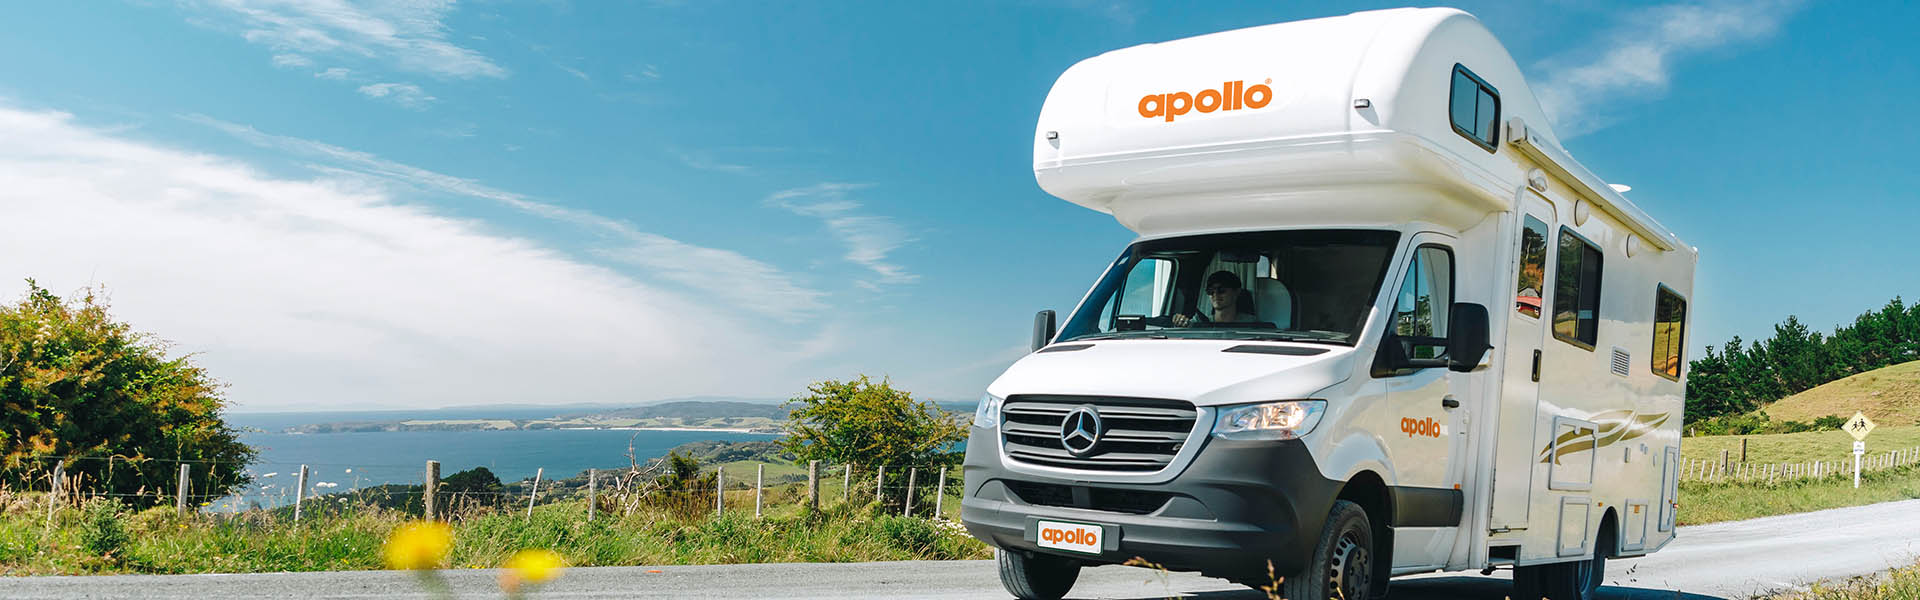
[[[1394,463],[1394,567],[1446,562],[1461,521],[1467,410],[1461,379],[1446,369],[1455,265],[1452,238],[1421,233],[1400,267],[1388,337],[1415,367],[1377,371],[1386,385],[1382,437]]]

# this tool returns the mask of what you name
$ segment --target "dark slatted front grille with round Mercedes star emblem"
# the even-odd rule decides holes
[[[1098,442],[1073,456],[1060,440],[1062,421],[1081,406],[1100,413]],[[1006,456],[1018,462],[1087,471],[1160,471],[1187,444],[1198,412],[1190,402],[1094,396],[1012,396],[1000,410]]]

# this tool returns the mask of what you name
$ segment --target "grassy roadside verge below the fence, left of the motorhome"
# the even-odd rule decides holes
[[[0,575],[261,573],[380,569],[382,544],[413,519],[361,506],[317,510],[300,525],[275,512],[188,515],[132,512],[111,500],[58,508],[42,494],[4,494]],[[449,567],[497,567],[518,550],[553,550],[566,565],[691,565],[989,558],[956,521],[904,517],[877,502],[783,506],[755,519],[687,504],[647,504],[586,519],[586,502],[474,508],[449,519]]]

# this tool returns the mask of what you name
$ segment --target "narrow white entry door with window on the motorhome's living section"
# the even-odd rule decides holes
[[[1500,385],[1500,435],[1494,440],[1492,529],[1526,527],[1528,490],[1538,456],[1540,348],[1546,342],[1548,283],[1553,281],[1553,244],[1548,231],[1553,204],[1532,190],[1521,200],[1519,227],[1511,240],[1513,302],[1507,313],[1507,363]]]

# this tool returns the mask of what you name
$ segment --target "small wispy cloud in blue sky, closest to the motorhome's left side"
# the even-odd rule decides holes
[[[887,260],[887,254],[906,246],[914,237],[891,217],[856,213],[860,204],[847,198],[847,192],[868,187],[864,183],[820,183],[774,192],[766,202],[797,215],[818,217],[835,238],[847,244],[845,258],[849,262],[879,275],[877,279],[854,281],[854,285],[877,290],[879,285],[918,281],[920,275]]]

